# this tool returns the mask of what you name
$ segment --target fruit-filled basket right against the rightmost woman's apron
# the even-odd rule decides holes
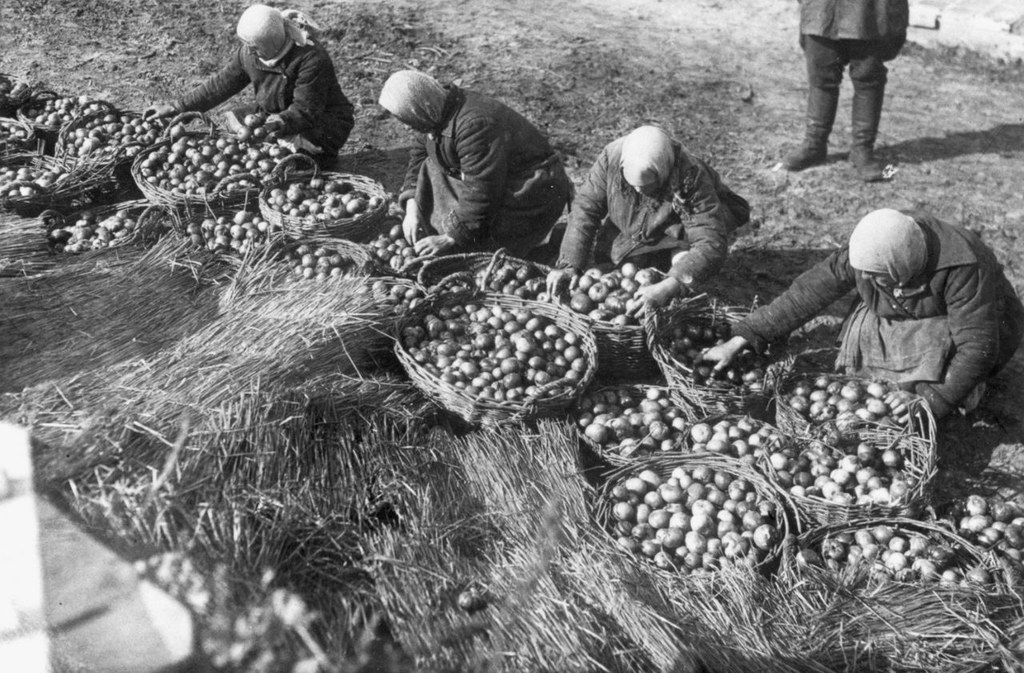
[[[824,381],[827,381],[836,391],[829,393],[827,388],[817,385]],[[868,390],[879,388],[887,393],[899,390],[899,386],[891,381],[788,369],[783,376],[775,380],[774,388],[775,423],[791,434],[827,438],[865,420],[869,423],[897,424],[891,417],[880,417],[863,405],[865,398],[871,396]],[[797,402],[795,393],[803,393],[801,388],[824,391],[824,394],[820,395],[822,399],[818,401],[820,409],[804,405],[803,403],[808,399],[804,394],[801,394],[800,402]],[[935,416],[928,404],[920,395],[908,392],[899,394],[903,395],[907,407],[905,429],[925,440],[935,441]],[[835,404],[828,402],[835,397],[839,397]],[[888,406],[882,409],[887,410]],[[812,412],[816,414],[817,420],[812,419]]]

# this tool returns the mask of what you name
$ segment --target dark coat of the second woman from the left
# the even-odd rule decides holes
[[[415,197],[434,227],[462,249],[525,254],[547,239],[569,201],[572,187],[561,159],[505,103],[445,88],[437,128],[410,152],[399,203]]]

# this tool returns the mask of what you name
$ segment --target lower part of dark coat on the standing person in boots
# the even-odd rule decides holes
[[[906,33],[907,0],[800,0],[800,33],[829,40],[885,40]]]

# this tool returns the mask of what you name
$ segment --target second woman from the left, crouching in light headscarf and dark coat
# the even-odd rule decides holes
[[[420,256],[544,244],[571,195],[547,138],[504,103],[417,71],[391,75],[380,104],[422,136],[399,195]]]

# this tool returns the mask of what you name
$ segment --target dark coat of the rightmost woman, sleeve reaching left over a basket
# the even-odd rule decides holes
[[[897,292],[872,283],[850,265],[845,246],[739,322],[734,334],[763,350],[769,341],[790,334],[853,289],[856,301],[889,321],[946,317],[952,347],[945,376],[919,383],[914,389],[937,416],[947,414],[1013,356],[1024,329],[1024,307],[992,251],[976,234],[925,213],[906,214],[924,229],[928,245],[928,264],[914,289]]]

